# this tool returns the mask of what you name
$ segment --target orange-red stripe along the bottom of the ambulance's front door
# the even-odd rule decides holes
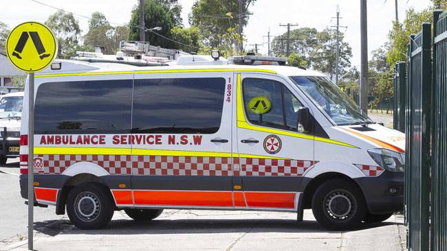
[[[295,208],[296,193],[245,192],[250,207]]]

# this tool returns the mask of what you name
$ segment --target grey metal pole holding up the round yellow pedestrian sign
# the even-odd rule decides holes
[[[28,75],[28,250],[33,250],[34,210],[34,73]],[[5,135],[6,137],[6,135]]]

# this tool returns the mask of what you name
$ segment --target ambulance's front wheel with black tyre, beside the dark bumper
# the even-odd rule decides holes
[[[316,189],[312,197],[312,212],[327,230],[351,230],[367,212],[363,193],[353,182],[329,180]]]

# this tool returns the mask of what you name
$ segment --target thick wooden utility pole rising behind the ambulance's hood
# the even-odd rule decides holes
[[[368,114],[367,0],[360,0],[360,109]]]

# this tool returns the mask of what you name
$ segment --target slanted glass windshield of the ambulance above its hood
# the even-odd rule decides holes
[[[356,103],[327,77],[290,77],[337,125],[373,123]]]

